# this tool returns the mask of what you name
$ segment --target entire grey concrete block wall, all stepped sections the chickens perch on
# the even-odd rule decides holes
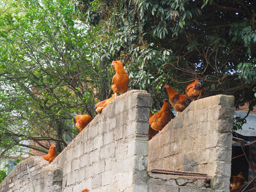
[[[225,191],[233,98],[217,95],[192,102],[148,142],[150,105],[146,91],[131,90],[114,98],[50,165],[42,157],[28,158],[3,181],[0,191],[32,191],[27,164],[36,191],[42,192]],[[212,180],[152,169],[202,172]]]

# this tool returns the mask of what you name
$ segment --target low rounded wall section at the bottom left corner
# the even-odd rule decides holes
[[[42,157],[35,156],[19,163],[15,169],[5,178],[0,185],[1,192],[33,191],[30,182],[27,165],[31,173],[36,191],[61,192],[62,191],[62,167],[52,165]]]

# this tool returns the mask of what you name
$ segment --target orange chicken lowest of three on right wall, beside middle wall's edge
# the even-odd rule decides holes
[[[149,117],[149,124],[153,130],[161,131],[164,126],[171,121],[171,119],[172,115],[170,112],[170,105],[164,100],[162,109],[158,113]]]

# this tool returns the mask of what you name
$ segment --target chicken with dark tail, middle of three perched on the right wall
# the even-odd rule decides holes
[[[189,106],[191,100],[186,94],[176,92],[171,85],[165,84],[164,87],[167,89],[169,101],[172,107],[177,111],[177,115]]]

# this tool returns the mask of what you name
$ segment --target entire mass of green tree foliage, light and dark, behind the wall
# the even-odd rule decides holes
[[[9,2],[9,1],[6,1]],[[255,2],[213,0],[22,0],[0,15],[2,154],[15,145],[47,153],[74,137],[74,114],[95,115],[111,95],[112,60],[122,60],[130,89],[147,90],[153,109],[164,84],[184,93],[195,78],[207,92],[256,104]],[[239,7],[239,9],[238,9]],[[31,131],[32,130],[32,131]],[[46,143],[43,141],[47,141]]]

